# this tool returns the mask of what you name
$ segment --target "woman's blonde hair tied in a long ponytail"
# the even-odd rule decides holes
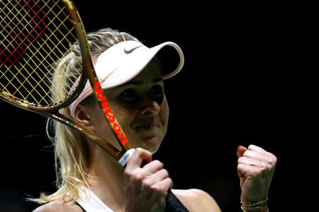
[[[135,40],[135,37],[128,33],[122,33],[118,30],[112,30],[111,28],[103,28],[94,33],[87,34],[89,46],[91,49],[91,57],[94,59],[99,57],[101,53],[106,51],[109,47],[116,45],[119,42],[125,40]],[[74,64],[74,56],[77,57],[78,64]],[[53,76],[52,92],[58,96],[65,96],[67,93],[64,89],[60,89],[58,85],[60,82],[58,79],[60,71],[63,71],[65,67],[72,67],[74,75],[79,76],[82,72],[82,59],[81,50],[79,45],[72,48],[60,62],[57,64],[55,70],[55,76]],[[61,83],[60,83],[61,84]],[[53,86],[52,86],[53,87]],[[59,98],[59,97],[58,97]],[[61,114],[66,117],[71,117],[69,114],[69,108],[65,107],[60,110]],[[57,176],[57,192],[46,195],[40,194],[39,199],[29,199],[31,201],[38,202],[40,204],[55,201],[57,199],[63,199],[66,203],[72,203],[79,198],[79,191],[81,187],[88,187],[87,173],[89,171],[88,159],[89,151],[87,147],[87,141],[83,136],[79,135],[73,129],[61,124],[60,122],[53,122],[48,120],[47,131],[49,126],[52,125],[52,129],[55,131],[55,136],[52,139],[55,146],[55,173]]]

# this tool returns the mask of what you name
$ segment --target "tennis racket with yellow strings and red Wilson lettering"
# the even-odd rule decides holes
[[[81,56],[69,54],[74,45],[81,48]],[[74,62],[72,66],[60,69],[57,64],[62,64],[65,57],[73,57]],[[60,69],[58,76],[55,74],[57,69]],[[71,71],[74,69],[81,71],[74,74]],[[111,125],[121,151],[85,126],[59,113],[62,107],[67,107],[79,96],[87,79],[99,105],[104,102],[103,110],[112,113],[111,107],[105,106],[106,96],[94,71],[84,25],[72,1],[0,1],[1,100],[43,114],[79,131],[124,166],[133,148],[115,117],[111,122],[108,118],[106,121]],[[52,86],[55,85],[66,85],[59,89],[64,89],[67,95],[53,92]]]

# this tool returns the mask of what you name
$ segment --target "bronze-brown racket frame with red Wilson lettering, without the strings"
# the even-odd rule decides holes
[[[99,102],[101,110],[103,110],[103,107],[101,106],[101,104],[104,101],[100,100],[98,98],[98,95],[105,96],[105,93],[102,89],[101,90],[103,91],[103,93],[101,93],[101,90],[99,90],[99,93],[97,93],[96,90],[94,90],[94,86],[97,83],[99,83],[99,79],[97,78],[96,72],[94,70],[94,65],[91,59],[91,51],[89,48],[89,42],[87,40],[86,31],[84,29],[82,20],[79,16],[79,12],[77,11],[77,8],[72,1],[70,0],[60,0],[60,1],[62,1],[65,4],[65,8],[67,9],[69,16],[71,17],[72,23],[74,25],[74,31],[77,34],[79,46],[82,51],[82,69],[83,70],[82,70],[81,76],[79,76],[81,77],[81,79],[79,81],[77,88],[75,88],[74,92],[72,92],[72,94],[69,95],[65,101],[54,104],[54,105],[50,105],[50,106],[31,104],[30,102],[26,102],[25,100],[21,100],[19,98],[13,97],[9,93],[7,93],[5,90],[1,90],[1,88],[0,88],[0,99],[6,102],[9,102],[11,105],[15,105],[16,107],[20,107],[28,111],[36,112],[45,117],[54,119],[57,122],[65,124],[66,126],[69,126],[72,129],[75,129],[80,134],[84,135],[87,139],[94,141],[97,145],[101,146],[105,151],[107,151],[111,156],[113,156],[113,158],[118,160],[118,162],[121,163],[122,166],[125,166],[129,156],[133,153],[134,149],[132,148],[129,142],[127,142],[125,146],[122,145],[121,140],[118,139],[117,133],[113,130],[113,127],[112,127],[113,124],[108,122],[108,118],[106,117],[106,114],[104,112],[103,114],[105,114],[106,122],[108,122],[108,124],[111,126],[114,136],[116,136],[118,143],[121,145],[121,148],[122,148],[121,151],[119,151],[118,148],[116,148],[111,143],[106,141],[106,139],[103,139],[100,136],[96,135],[94,131],[91,131],[90,129],[86,128],[86,126],[82,126],[82,124],[79,124],[75,122],[73,119],[65,117],[64,115],[59,113],[59,110],[61,108],[67,107],[74,100],[77,99],[77,97],[80,95],[80,93],[84,89],[84,86],[86,85],[86,81],[88,79],[91,84],[91,88],[94,91],[94,96],[96,97],[96,100]],[[115,121],[116,121],[115,123],[118,124],[118,121],[116,120],[116,118],[115,118]],[[118,124],[118,126],[120,126],[120,124]],[[122,129],[121,131],[123,132]]]

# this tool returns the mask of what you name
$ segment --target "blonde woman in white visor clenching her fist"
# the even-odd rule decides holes
[[[181,61],[184,59],[181,51],[177,45],[173,45],[179,53],[180,62],[177,70],[166,75],[161,68],[161,63],[165,61],[159,62],[154,55],[150,57],[138,53],[148,50],[128,33],[106,28],[90,33],[88,39],[96,72],[100,82],[103,81],[101,87],[106,90],[113,113],[135,152],[130,156],[124,170],[101,147],[86,141],[67,126],[55,123],[58,189],[54,194],[41,194],[40,199],[35,201],[46,204],[35,209],[35,212],[164,211],[167,192],[172,189],[173,182],[164,165],[158,160],[152,161],[152,153],[157,151],[167,131],[169,107],[164,95],[163,78],[169,78],[181,69]],[[126,44],[135,46],[125,46]],[[124,49],[124,53],[119,53],[118,49]],[[80,55],[79,49],[74,49],[71,54]],[[128,58],[139,54],[136,58],[142,62],[136,61],[136,58],[128,59],[124,65],[118,60],[120,54]],[[143,57],[147,59],[143,60]],[[72,63],[71,59],[67,58],[68,56],[61,62],[60,67]],[[108,60],[110,58],[111,60]],[[113,61],[115,65],[119,63],[119,66],[126,66],[127,69],[133,69],[138,63],[144,63],[145,66],[130,73],[128,77],[123,77],[125,73],[116,76],[116,73],[121,72],[118,66],[106,73]],[[55,76],[59,76],[58,70],[59,68]],[[63,89],[59,88],[61,87],[55,86],[55,92],[65,95]],[[62,113],[118,146],[98,103],[91,95],[90,87],[86,88]],[[276,157],[257,146],[240,146],[237,155],[241,200],[244,201],[242,209],[267,211],[267,194]],[[144,166],[143,160],[147,162]],[[201,190],[172,189],[172,192],[189,211],[220,211],[216,201]],[[248,201],[254,204],[248,204]]]

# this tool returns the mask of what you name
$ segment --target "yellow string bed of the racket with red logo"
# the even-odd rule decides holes
[[[70,50],[77,37],[64,4],[1,1],[0,26],[0,92],[35,105],[65,101],[82,66]]]

